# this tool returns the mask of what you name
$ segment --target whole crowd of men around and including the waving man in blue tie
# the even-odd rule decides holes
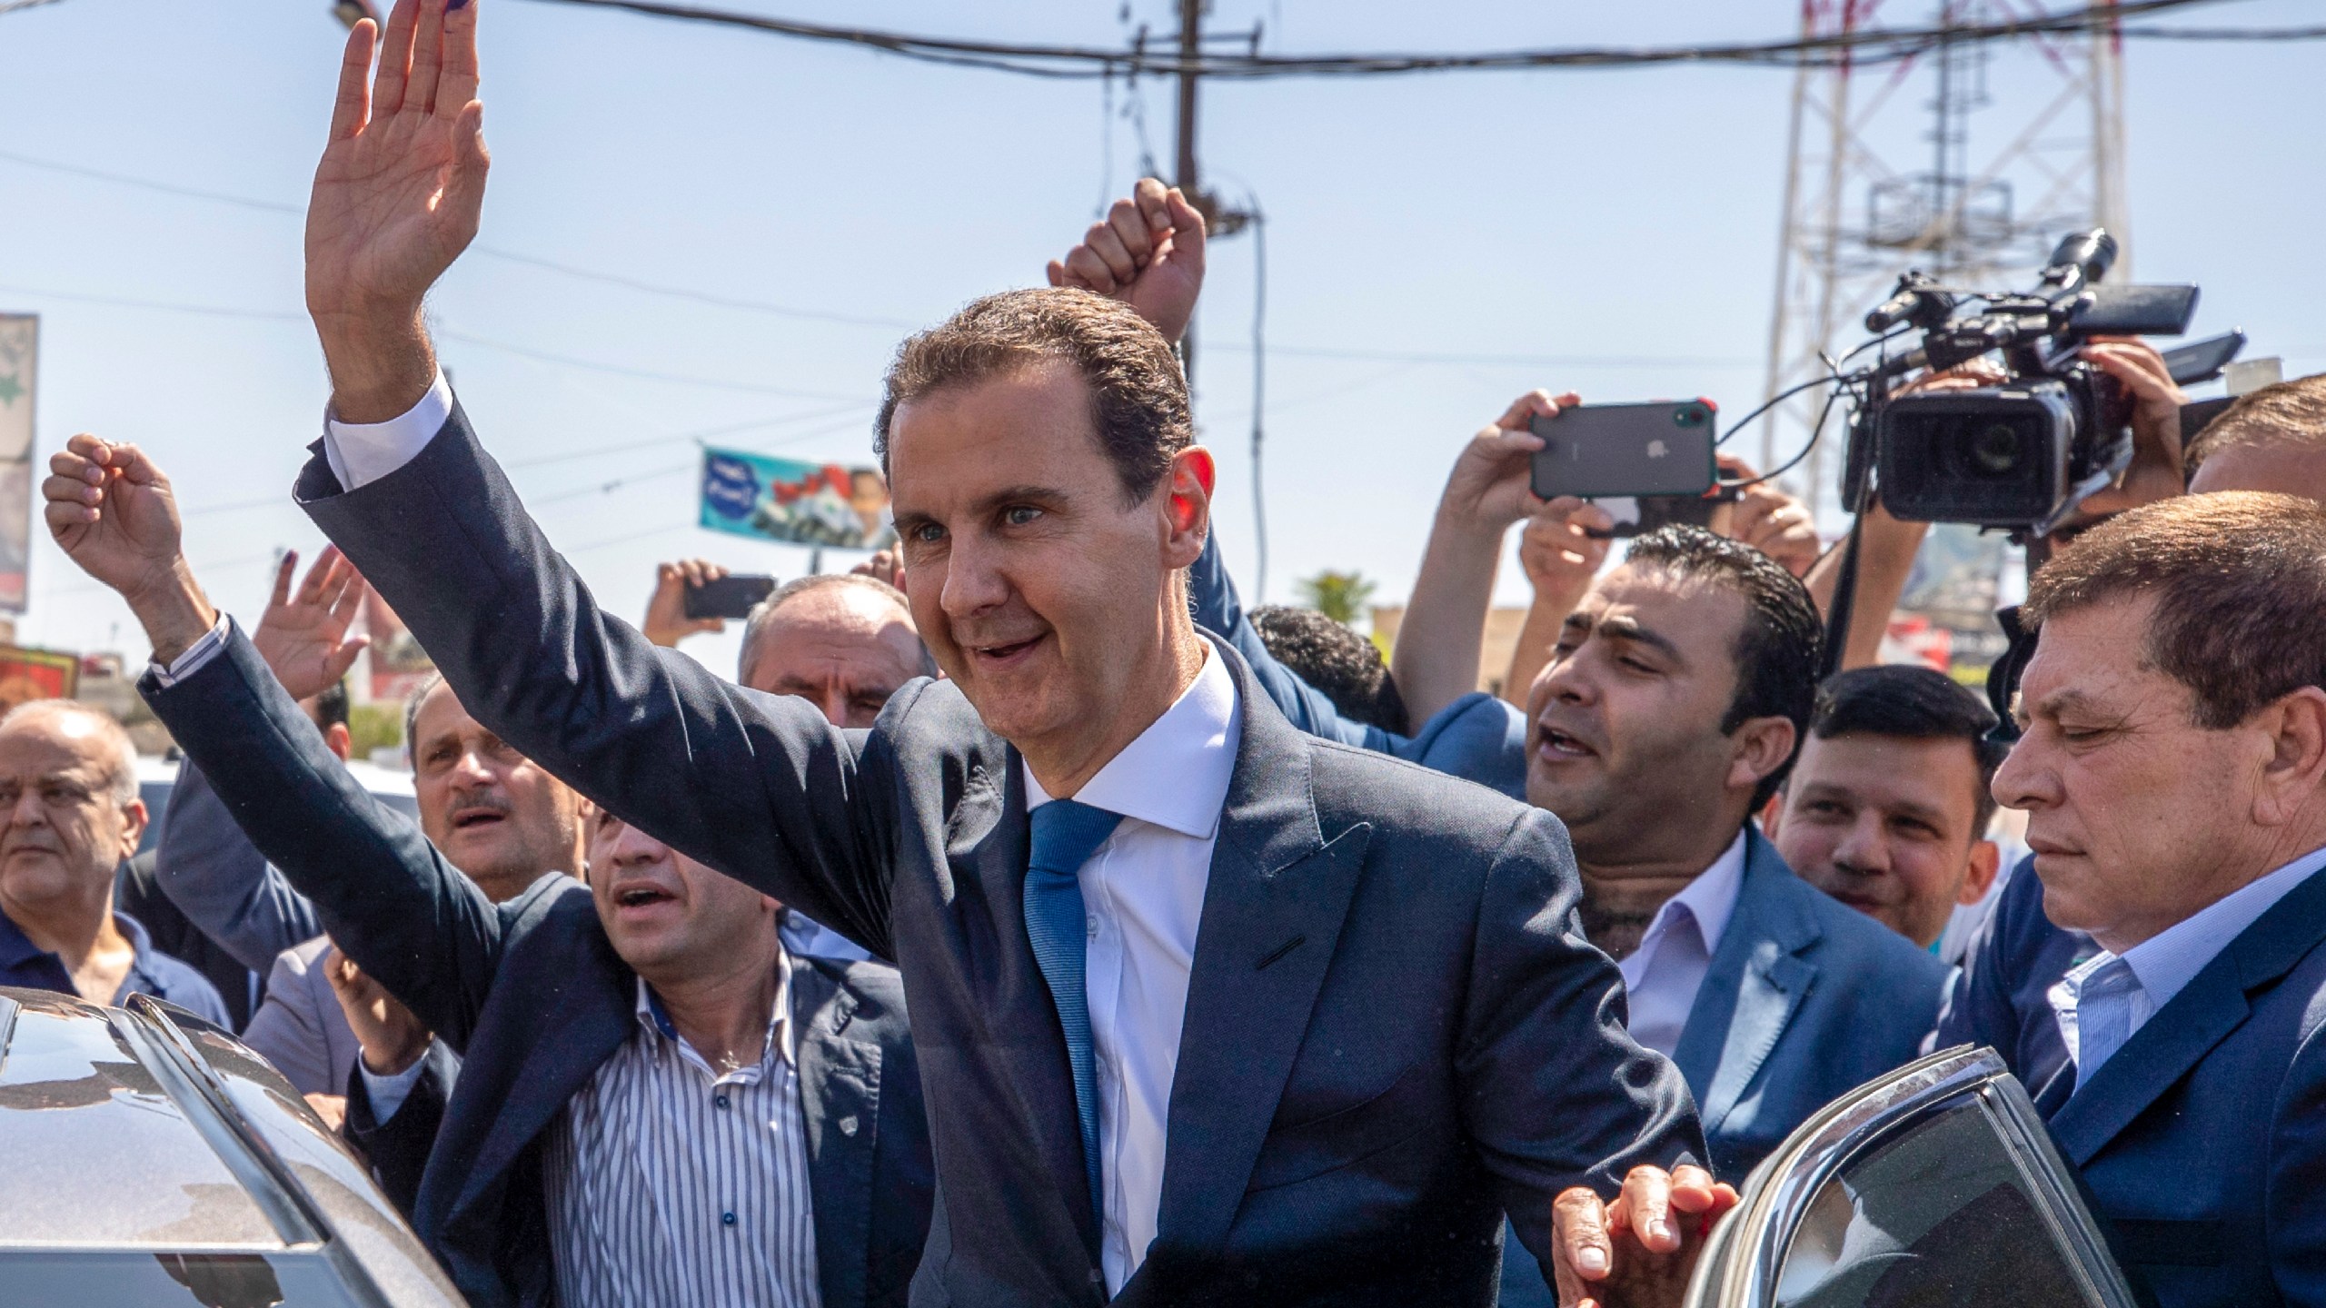
[[[2184,449],[2154,349],[2091,347],[2140,454],[2047,540],[2012,721],[1877,663],[1924,531],[1879,507],[1831,635],[1765,482],[1610,568],[1528,489],[1549,389],[1454,458],[1382,661],[1242,607],[1175,356],[1203,216],[1142,182],[900,347],[896,547],[770,593],[728,680],[672,652],[721,568],[602,612],[435,363],[475,26],[347,47],[305,577],[244,628],[147,454],[51,461],[186,761],[133,856],[123,731],[0,719],[0,982],[240,1031],[475,1303],[1668,1306],[1793,1129],[1952,1045],[2156,1303],[2326,1303],[2326,377]],[[365,589],[440,668],[416,817],[344,766]]]

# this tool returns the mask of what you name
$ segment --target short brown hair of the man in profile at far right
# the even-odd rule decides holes
[[[2224,731],[2303,687],[2326,687],[2326,510],[2300,496],[2214,491],[2117,514],[2028,582],[2019,621],[2156,596],[2142,640]]]

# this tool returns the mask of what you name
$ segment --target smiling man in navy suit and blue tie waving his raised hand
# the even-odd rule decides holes
[[[516,749],[898,961],[940,1175],[916,1303],[1486,1303],[1503,1208],[1549,1257],[1579,1185],[1631,1182],[1624,1275],[1693,1257],[1675,1213],[1733,1196],[1631,1178],[1700,1138],[1558,824],[1296,733],[1189,621],[1212,461],[1154,328],[1033,291],[907,342],[879,449],[949,680],[833,728],[602,614],[523,514],[419,321],[481,205],[475,9],[398,5],[377,100],[372,40],[309,209],[335,391],[300,498]],[[128,531],[79,449],[51,514]],[[207,605],[126,570],[177,663]]]

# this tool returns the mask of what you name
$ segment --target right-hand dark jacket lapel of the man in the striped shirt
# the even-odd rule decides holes
[[[791,1029],[807,1126],[807,1187],[816,1210],[823,1308],[865,1299],[872,1247],[872,1152],[879,1140],[879,1045],[847,1040],[856,996],[807,959],[791,961]]]

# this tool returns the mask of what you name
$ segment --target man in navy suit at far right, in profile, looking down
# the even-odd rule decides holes
[[[2131,510],[2021,621],[1996,798],[2035,859],[1982,959],[2056,980],[2049,1022],[2003,984],[1986,1024],[2159,1303],[2326,1301],[2326,512]]]

